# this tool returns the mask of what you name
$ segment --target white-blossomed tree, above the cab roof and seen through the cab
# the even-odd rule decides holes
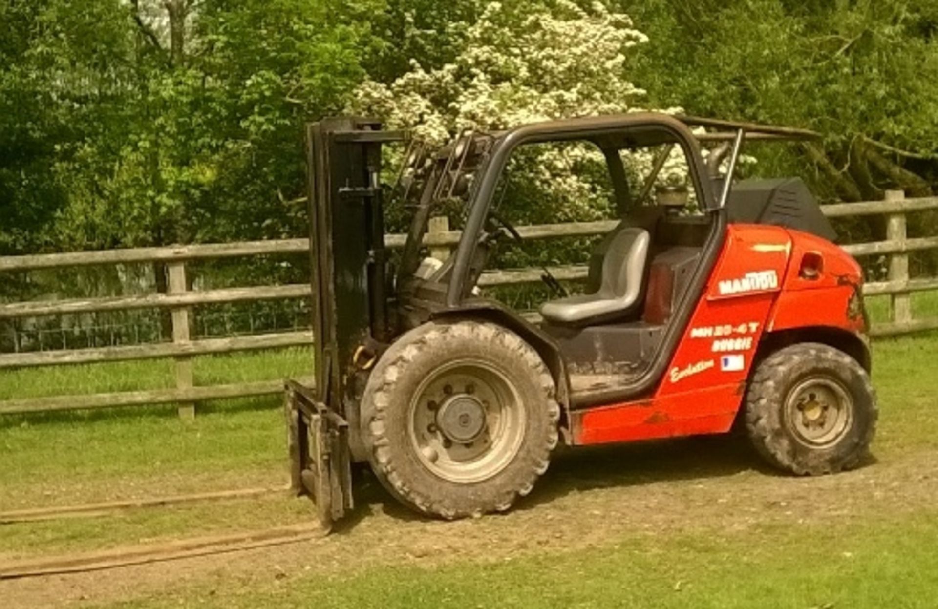
[[[629,112],[643,101],[644,91],[623,66],[647,38],[627,15],[568,0],[492,2],[478,14],[475,23],[452,26],[461,37],[453,40],[451,61],[427,66],[413,59],[411,70],[389,83],[369,79],[356,88],[350,110],[440,144],[463,129]],[[604,166],[595,147],[540,146],[512,163],[507,188],[514,192],[507,198],[516,203],[516,219],[595,218],[608,211],[609,193],[591,179]]]

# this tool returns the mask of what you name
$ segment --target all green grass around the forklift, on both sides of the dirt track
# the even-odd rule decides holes
[[[930,306],[928,299],[923,302]],[[930,374],[936,360],[938,332],[873,343],[873,381],[881,407],[874,453],[884,467],[904,464],[906,469],[901,471],[909,471],[909,464],[934,463],[938,457],[935,383]],[[302,374],[308,366],[309,357],[301,349],[196,362],[202,383]],[[4,373],[0,391],[22,395],[16,393],[20,389],[15,385],[24,384],[23,390],[33,395],[61,392],[60,387],[47,386],[52,380],[43,380],[43,373],[52,371]],[[84,392],[108,390],[120,383],[143,388],[172,382],[170,370],[152,364],[98,364],[59,371],[55,382]],[[140,377],[115,378],[135,373]],[[282,483],[286,460],[279,405],[277,397],[208,403],[200,407],[194,421],[178,419],[173,406],[0,418],[0,463],[4,464],[0,510]],[[645,469],[654,478],[654,465]],[[633,478],[640,470],[644,471],[632,468]],[[315,557],[307,557],[299,564],[310,565],[310,570],[288,567],[285,582],[243,574],[227,579],[193,576],[186,582],[161,585],[159,592],[130,594],[132,600],[125,606],[933,605],[938,595],[938,553],[933,550],[938,547],[938,508],[933,505],[923,508],[918,500],[901,513],[846,510],[827,524],[802,525],[794,519],[785,524],[747,512],[740,514],[738,527],[714,527],[690,516],[697,513],[689,498],[693,496],[690,487],[698,483],[696,476],[691,473],[687,480],[666,482],[662,478],[658,482],[675,485],[667,487],[673,489],[668,496],[687,502],[688,519],[674,528],[660,528],[655,535],[600,536],[592,547],[565,550],[563,544],[553,544],[548,550],[536,547],[507,556],[495,552],[497,557],[492,558],[484,553],[452,560],[444,557],[426,566],[404,557],[377,562],[355,558],[344,566],[335,557],[322,565]],[[567,477],[575,481],[576,473],[567,472]],[[757,473],[738,479],[730,475],[727,480],[736,480],[726,483],[740,495],[754,486],[774,483]],[[554,480],[554,492],[567,489],[573,481]],[[851,501],[870,501],[873,487],[869,492],[865,483],[856,488]],[[564,494],[578,492],[564,490],[555,502],[546,500],[533,509],[549,513],[552,503],[563,502]],[[902,487],[887,492],[905,496]],[[366,521],[369,505],[366,501],[359,507]],[[552,526],[577,526],[575,511],[558,513],[564,516],[555,518]],[[308,518],[305,501],[273,495],[171,510],[133,510],[117,518],[11,525],[2,528],[0,556],[55,554]],[[480,524],[488,522],[483,519]],[[492,522],[494,530],[510,526],[498,525],[497,519]],[[414,531],[407,521],[394,518],[361,525],[360,536],[355,531],[346,539],[336,536],[329,540],[335,544],[332,547],[364,543],[355,552],[365,558],[370,554],[368,543]],[[375,532],[372,526],[386,531]],[[447,529],[430,530],[445,535]],[[492,543],[497,548],[499,540],[475,540],[470,535],[465,543]],[[269,567],[257,565],[259,572]]]

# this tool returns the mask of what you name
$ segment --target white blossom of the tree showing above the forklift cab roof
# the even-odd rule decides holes
[[[462,29],[462,28],[455,28]],[[352,110],[440,143],[461,129],[628,112],[644,91],[627,78],[627,53],[647,38],[628,16],[568,0],[492,2],[453,43],[442,66],[416,58],[389,84],[367,80]]]

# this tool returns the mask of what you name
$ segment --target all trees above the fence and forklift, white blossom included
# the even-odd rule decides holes
[[[829,166],[764,151],[755,171],[812,172],[828,198],[938,179],[932,0],[606,4],[0,4],[0,254],[300,235],[302,125],[363,82],[374,95],[359,107],[390,100],[397,122],[446,128],[636,99],[812,127]],[[637,31],[650,41],[632,46]],[[863,138],[918,156],[868,162]]]

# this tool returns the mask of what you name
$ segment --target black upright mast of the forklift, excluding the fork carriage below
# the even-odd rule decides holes
[[[339,118],[307,131],[316,387],[339,414],[349,366],[388,336],[381,145],[395,134],[380,129]]]

